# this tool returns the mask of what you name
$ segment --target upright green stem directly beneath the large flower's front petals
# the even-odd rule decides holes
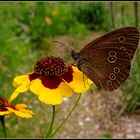
[[[52,121],[49,127],[49,130],[47,132],[46,138],[49,138],[52,131],[53,131],[53,123],[54,123],[54,118],[55,118],[55,105],[52,106],[53,107],[53,111],[52,111]]]

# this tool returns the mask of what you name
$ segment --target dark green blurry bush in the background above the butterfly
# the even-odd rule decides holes
[[[76,21],[87,25],[90,30],[102,28],[106,17],[104,4],[100,2],[77,2],[72,13]]]

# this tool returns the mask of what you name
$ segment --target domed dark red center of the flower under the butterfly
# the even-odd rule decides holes
[[[67,66],[63,59],[49,56],[36,62],[34,66],[35,74],[45,76],[60,76],[67,71]]]

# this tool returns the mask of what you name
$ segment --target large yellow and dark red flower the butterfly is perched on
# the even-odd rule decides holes
[[[34,66],[34,72],[17,76],[13,80],[17,93],[30,89],[46,104],[61,104],[62,97],[71,97],[74,92],[85,92],[90,81],[74,66],[67,66],[59,57],[45,57]]]

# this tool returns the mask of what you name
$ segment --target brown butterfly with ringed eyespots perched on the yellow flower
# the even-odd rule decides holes
[[[135,27],[120,28],[91,41],[79,53],[72,50],[72,57],[78,69],[98,87],[113,91],[130,74],[139,37]]]

